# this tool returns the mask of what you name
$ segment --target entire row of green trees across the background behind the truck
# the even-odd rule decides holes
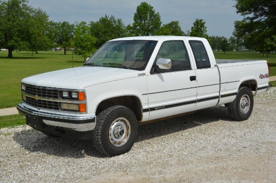
[[[235,21],[233,36],[226,38],[209,36],[203,19],[197,18],[191,30],[186,33],[182,31],[177,20],[162,24],[159,12],[156,12],[154,7],[147,2],[142,2],[137,6],[133,23],[125,25],[121,18],[116,18],[113,15],[105,15],[99,20],[89,23],[85,21],[74,24],[68,21],[54,22],[49,20],[49,16],[42,9],[28,5],[28,0],[0,0],[0,47],[9,50],[9,58],[13,57],[13,50],[38,52],[39,50],[49,50],[51,47],[63,47],[64,54],[66,54],[67,49],[73,47],[74,52],[82,55],[85,59],[104,42],[113,38],[142,35],[187,35],[207,38],[214,50],[238,50],[242,45],[259,51],[275,49],[275,46],[273,47],[276,40],[275,32],[271,35],[273,32],[269,32],[270,30],[262,32],[265,28],[252,29],[254,17],[257,18],[259,14],[251,16],[255,12],[250,11],[250,8],[253,9],[251,6],[246,6],[248,9],[242,6],[245,1],[254,2],[254,8],[258,5],[261,7],[267,5],[265,3],[267,0],[236,0],[237,12],[250,16],[245,17],[242,21]],[[274,2],[275,0],[268,1]],[[276,5],[270,6],[275,10]],[[264,20],[265,12],[261,12],[263,18],[258,19],[255,23],[260,24]],[[267,12],[269,17],[275,18],[275,14],[270,11],[269,13]],[[274,20],[273,18],[268,21]],[[264,25],[267,24],[262,26]],[[256,35],[261,37],[256,38]],[[263,44],[259,41],[260,39],[263,39]]]

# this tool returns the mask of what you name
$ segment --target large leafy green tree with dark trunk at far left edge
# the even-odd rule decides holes
[[[31,41],[34,39],[30,39],[30,34],[31,27],[35,26],[34,23],[42,25],[48,20],[44,11],[29,6],[28,2],[28,0],[0,1],[0,47],[9,50],[8,58],[13,57],[14,49],[32,45]],[[44,18],[41,18],[42,16]],[[32,37],[36,36],[38,34],[34,34]]]

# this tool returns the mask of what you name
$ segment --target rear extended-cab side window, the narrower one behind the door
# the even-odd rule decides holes
[[[189,40],[189,43],[196,59],[197,68],[210,68],[210,60],[203,42],[199,40]]]

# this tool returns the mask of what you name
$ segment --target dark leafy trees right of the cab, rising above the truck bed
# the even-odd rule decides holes
[[[276,51],[276,0],[235,0],[236,12],[244,18],[234,21],[233,35],[218,37],[220,50],[245,47],[263,53]],[[213,37],[214,38],[214,37]],[[214,49],[214,48],[213,48]]]

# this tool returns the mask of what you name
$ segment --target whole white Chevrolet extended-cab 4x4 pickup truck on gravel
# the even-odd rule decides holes
[[[113,156],[132,147],[137,124],[222,104],[232,119],[246,120],[268,77],[265,60],[216,60],[205,38],[125,37],[81,67],[24,78],[17,108],[37,130],[92,139]]]

